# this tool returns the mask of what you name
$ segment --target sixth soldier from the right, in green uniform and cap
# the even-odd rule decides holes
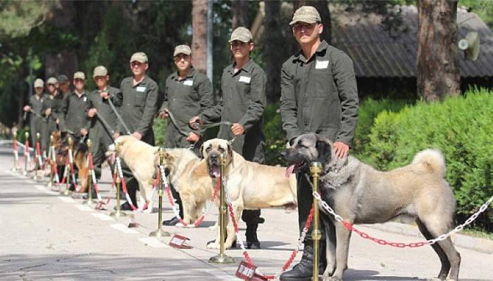
[[[73,83],[75,90],[63,97],[60,118],[63,119],[65,128],[75,141],[80,141],[89,133],[90,122],[86,116],[89,107],[87,91],[85,91],[84,72],[75,72]]]

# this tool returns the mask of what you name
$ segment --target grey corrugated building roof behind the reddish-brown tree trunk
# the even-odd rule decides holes
[[[380,15],[342,12],[333,25],[333,45],[354,60],[356,77],[416,77],[418,51],[416,6],[403,6],[399,31],[385,30]],[[471,31],[480,35],[478,60],[460,54],[461,77],[493,77],[493,32],[475,13],[457,11],[458,39]]]

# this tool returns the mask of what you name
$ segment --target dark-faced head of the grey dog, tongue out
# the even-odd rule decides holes
[[[286,175],[306,172],[311,162],[329,163],[332,159],[332,143],[316,133],[307,133],[294,139],[291,147],[281,152],[288,167]]]

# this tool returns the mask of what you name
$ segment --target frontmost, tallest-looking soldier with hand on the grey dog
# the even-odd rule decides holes
[[[290,25],[301,51],[282,65],[282,129],[289,141],[304,133],[318,133],[334,143],[337,157],[346,157],[358,122],[358,91],[353,62],[346,53],[320,41],[323,25],[316,8],[302,6],[294,13]],[[301,231],[313,197],[306,177],[300,174],[297,180]],[[324,228],[323,221],[320,221],[323,233]],[[309,233],[311,229],[304,241],[301,261],[292,270],[282,273],[280,280],[311,280],[313,243]],[[322,273],[326,265],[325,241],[320,243],[320,259]]]

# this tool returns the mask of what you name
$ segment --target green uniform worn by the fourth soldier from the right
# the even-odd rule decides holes
[[[140,133],[142,135],[141,141],[154,145],[152,124],[157,110],[158,84],[147,76],[137,85],[133,84],[133,79],[134,77],[127,77],[123,79],[120,85],[120,90],[123,93],[120,112],[123,121],[130,130],[128,133]],[[118,131],[123,134],[127,133],[122,124],[119,124]],[[125,163],[123,163],[122,169],[130,199],[137,206],[135,195],[139,184]]]

